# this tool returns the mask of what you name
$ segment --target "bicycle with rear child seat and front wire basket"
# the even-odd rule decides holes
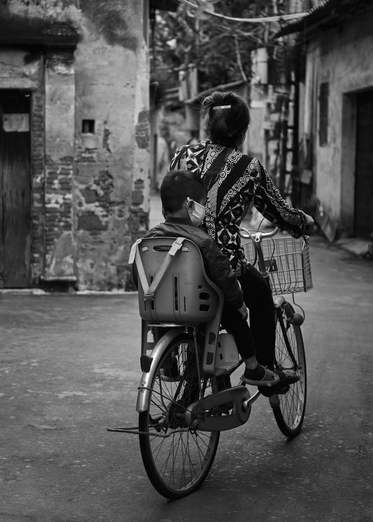
[[[304,312],[295,313],[279,293],[293,293],[294,301],[294,292],[309,290],[312,280],[308,239],[272,239],[277,230],[250,234],[242,229],[241,235],[252,239],[242,245],[246,257],[258,263],[275,295],[275,368],[293,369],[300,375],[286,393],[269,398],[279,429],[293,438],[301,429],[306,407],[306,358],[300,331]],[[139,240],[130,262],[135,263],[141,282],[139,423],[108,431],[139,435],[150,482],[174,500],[201,487],[213,464],[220,431],[247,422],[261,393],[251,396],[242,381],[231,386],[230,376],[242,360],[233,337],[219,334],[223,294],[207,278],[196,245],[183,238]]]

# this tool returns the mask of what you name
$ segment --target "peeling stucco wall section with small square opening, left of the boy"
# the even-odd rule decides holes
[[[118,2],[111,4],[120,8]],[[95,17],[95,12],[88,14]],[[147,55],[140,38],[141,10],[126,14],[136,41],[130,33],[128,40],[110,34],[108,42],[105,31],[96,32],[98,20],[96,25],[88,20],[75,52],[73,199],[82,289],[127,288],[130,246],[141,228],[147,228]],[[83,120],[94,121],[93,133],[81,132]]]

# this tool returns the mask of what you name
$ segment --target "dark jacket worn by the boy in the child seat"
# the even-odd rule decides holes
[[[190,220],[168,217],[164,223],[149,230],[144,237],[181,237],[193,241],[201,251],[208,277],[223,290],[224,303],[236,310],[243,305],[242,292],[228,258],[220,252],[209,235],[200,228],[192,227]]]

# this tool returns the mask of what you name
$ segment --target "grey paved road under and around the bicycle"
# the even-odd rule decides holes
[[[356,522],[373,519],[373,264],[312,238],[302,433],[267,401],[222,433],[201,490],[167,502],[136,436],[137,296],[0,294],[0,522]]]

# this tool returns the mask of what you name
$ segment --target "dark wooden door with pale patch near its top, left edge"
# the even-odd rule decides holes
[[[0,90],[0,287],[30,285],[30,93]]]

